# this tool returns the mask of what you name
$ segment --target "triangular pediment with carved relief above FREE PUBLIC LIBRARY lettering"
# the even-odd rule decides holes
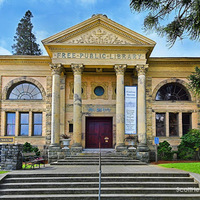
[[[42,41],[48,44],[155,45],[156,43],[110,19],[95,15],[90,19]]]

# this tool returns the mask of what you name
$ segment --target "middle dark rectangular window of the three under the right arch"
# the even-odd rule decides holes
[[[178,135],[178,113],[169,113],[169,136]]]

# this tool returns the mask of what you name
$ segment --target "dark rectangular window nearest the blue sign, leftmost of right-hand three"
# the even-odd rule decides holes
[[[165,113],[156,113],[156,136],[166,136]]]

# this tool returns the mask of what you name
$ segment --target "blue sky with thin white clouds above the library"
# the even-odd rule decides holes
[[[106,14],[108,18],[152,40],[157,45],[152,57],[198,57],[200,42],[185,39],[168,49],[166,38],[156,33],[147,34],[142,25],[144,13],[132,13],[130,0],[0,0],[0,55],[11,55],[17,25],[27,10],[33,14],[33,32],[47,55],[41,40],[76,25],[93,14]]]

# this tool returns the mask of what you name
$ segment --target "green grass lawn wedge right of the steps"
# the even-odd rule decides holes
[[[169,163],[169,164],[159,164],[161,167],[166,168],[176,168],[181,169],[188,172],[193,172],[200,174],[200,162],[195,163]]]

